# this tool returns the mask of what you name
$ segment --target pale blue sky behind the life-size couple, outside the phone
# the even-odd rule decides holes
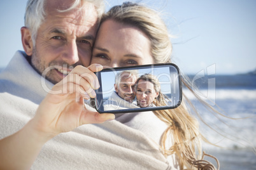
[[[0,1],[0,67],[22,48],[27,0]],[[121,4],[108,0],[106,10]],[[181,72],[238,74],[256,69],[255,0],[141,0],[160,12],[172,35],[172,61]]]

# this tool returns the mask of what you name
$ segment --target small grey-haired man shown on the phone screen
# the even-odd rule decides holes
[[[132,103],[136,96],[134,85],[138,79],[135,71],[119,72],[115,76],[115,91],[110,98],[104,102],[104,110],[120,110],[127,108],[138,108]]]

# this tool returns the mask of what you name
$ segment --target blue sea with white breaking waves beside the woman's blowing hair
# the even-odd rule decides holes
[[[215,108],[211,112],[188,89],[183,92],[196,106],[206,154],[217,157],[220,169],[256,169],[256,74],[188,75],[193,91]],[[217,145],[217,146],[215,146]],[[210,157],[215,166],[217,162]]]

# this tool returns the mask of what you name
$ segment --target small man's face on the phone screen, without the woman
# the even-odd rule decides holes
[[[117,91],[118,96],[132,103],[136,95],[134,91],[136,81],[137,79],[134,75],[122,74],[118,86],[115,84],[115,91]]]

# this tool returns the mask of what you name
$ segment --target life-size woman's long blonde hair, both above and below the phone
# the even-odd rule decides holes
[[[103,15],[101,23],[106,20],[114,20],[128,25],[138,27],[143,31],[151,41],[151,53],[155,63],[170,63],[172,45],[170,35],[159,13],[156,11],[135,3],[124,3],[120,6],[114,6]],[[185,77],[182,79],[183,86],[186,86],[195,95],[190,86],[190,82]],[[196,97],[200,100],[199,96]],[[205,104],[205,103],[204,103]],[[190,114],[197,113],[196,108],[183,94],[183,101],[180,107],[171,110],[157,110],[154,114],[168,125],[166,131],[162,134],[160,148],[164,155],[176,154],[180,169],[184,167],[190,169],[203,169],[205,167],[215,169],[215,167],[206,160],[201,160],[201,139],[207,141],[199,132],[198,121]],[[207,107],[207,106],[206,106]],[[173,146],[166,148],[166,141],[171,138]],[[198,154],[198,157],[196,156]]]

